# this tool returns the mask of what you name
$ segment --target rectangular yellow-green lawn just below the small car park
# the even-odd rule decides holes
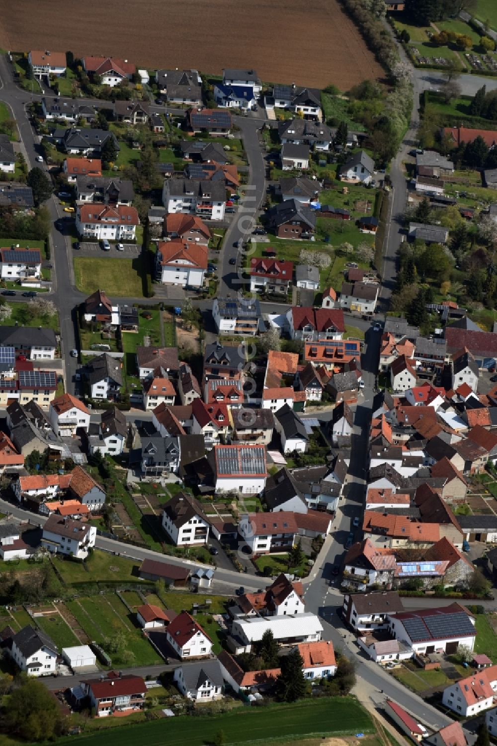
[[[75,257],[74,266],[77,289],[86,295],[104,287],[110,297],[143,297],[147,268],[141,256],[136,259]]]

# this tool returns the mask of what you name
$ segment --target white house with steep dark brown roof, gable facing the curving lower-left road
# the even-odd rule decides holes
[[[162,528],[177,547],[199,546],[209,539],[209,523],[200,503],[183,492],[165,504]]]

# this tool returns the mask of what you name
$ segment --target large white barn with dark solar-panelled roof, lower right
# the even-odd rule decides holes
[[[458,603],[387,615],[388,631],[414,653],[455,653],[459,645],[475,647],[475,618]]]

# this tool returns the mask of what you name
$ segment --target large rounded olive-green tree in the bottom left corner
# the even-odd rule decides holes
[[[4,730],[25,741],[51,741],[60,734],[62,718],[57,700],[36,679],[22,680],[10,695],[3,715]]]

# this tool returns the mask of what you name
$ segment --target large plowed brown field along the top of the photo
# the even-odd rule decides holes
[[[341,90],[382,76],[337,0],[10,0],[0,46],[211,74],[253,66],[264,81]]]

